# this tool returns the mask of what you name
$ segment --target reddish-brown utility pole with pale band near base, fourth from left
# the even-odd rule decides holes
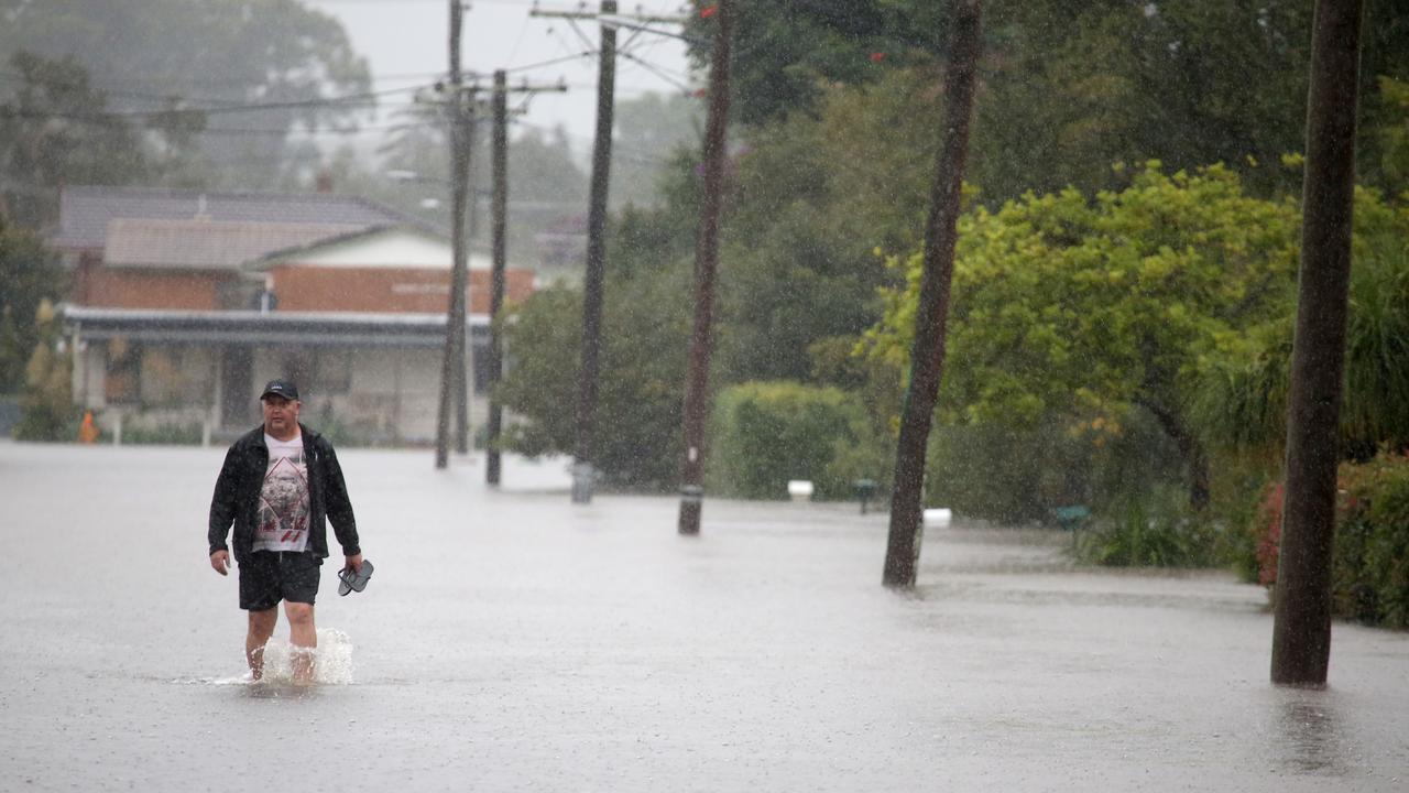
[[[719,212],[724,192],[724,128],[728,124],[728,66],[734,40],[734,0],[719,0],[714,52],[709,66],[709,117],[704,123],[704,195],[695,237],[695,333],[685,378],[685,461],[681,464],[679,532],[700,532],[704,501],[704,420],[709,415],[709,358],[714,322],[714,270],[719,262]]]

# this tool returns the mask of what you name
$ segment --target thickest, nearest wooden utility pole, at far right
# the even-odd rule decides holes
[[[1324,686],[1355,196],[1361,0],[1317,0],[1302,182],[1302,267],[1286,420],[1272,683]]]

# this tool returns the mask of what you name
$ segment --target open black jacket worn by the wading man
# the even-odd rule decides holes
[[[356,539],[356,518],[348,501],[347,483],[333,444],[321,435],[299,425],[303,435],[303,459],[309,467],[309,543],[320,559],[328,556],[328,521],[342,546],[344,556],[362,552]],[[216,480],[210,500],[210,553],[227,550],[225,533],[235,525],[235,562],[244,563],[254,552],[255,525],[259,515],[259,490],[269,467],[269,447],[263,426],[240,437],[225,453],[225,464]]]

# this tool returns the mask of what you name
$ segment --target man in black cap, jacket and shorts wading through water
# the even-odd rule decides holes
[[[313,600],[328,556],[333,521],[347,567],[362,570],[356,519],[333,444],[299,423],[299,389],[271,380],[259,395],[263,426],[237,440],[210,500],[210,566],[230,574],[225,533],[235,526],[240,608],[249,612],[245,658],[255,680],[263,677],[263,648],[279,622],[279,601],[289,618],[294,683],[313,682]]]

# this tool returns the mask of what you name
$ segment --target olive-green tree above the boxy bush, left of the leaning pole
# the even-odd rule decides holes
[[[721,253],[726,381],[819,381],[819,356],[879,316],[893,275],[876,251],[919,244],[933,171],[934,130],[916,117],[937,103],[920,73],[826,89],[816,119],[745,133]]]

